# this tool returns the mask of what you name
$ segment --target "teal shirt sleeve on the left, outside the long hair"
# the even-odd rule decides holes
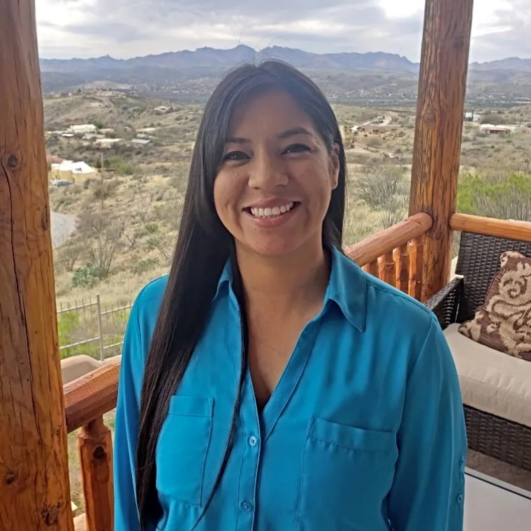
[[[118,385],[114,442],[115,531],[140,531],[135,471],[143,354],[137,299],[127,323]]]

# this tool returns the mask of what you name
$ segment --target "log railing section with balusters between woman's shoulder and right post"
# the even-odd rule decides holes
[[[431,226],[429,214],[416,214],[347,247],[345,252],[374,277],[421,300],[423,236]]]

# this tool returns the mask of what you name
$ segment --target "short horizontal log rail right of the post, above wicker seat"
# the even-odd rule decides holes
[[[531,242],[531,223],[527,221],[509,221],[469,214],[453,214],[450,219],[450,228],[456,232],[470,232]]]

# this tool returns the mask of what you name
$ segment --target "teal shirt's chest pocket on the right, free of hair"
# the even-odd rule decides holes
[[[313,418],[303,455],[296,531],[379,531],[382,502],[393,483],[393,432]]]

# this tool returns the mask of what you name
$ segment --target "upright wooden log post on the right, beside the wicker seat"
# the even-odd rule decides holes
[[[474,0],[426,0],[409,215],[433,225],[423,247],[422,300],[449,280],[450,217],[456,210],[472,6]]]

